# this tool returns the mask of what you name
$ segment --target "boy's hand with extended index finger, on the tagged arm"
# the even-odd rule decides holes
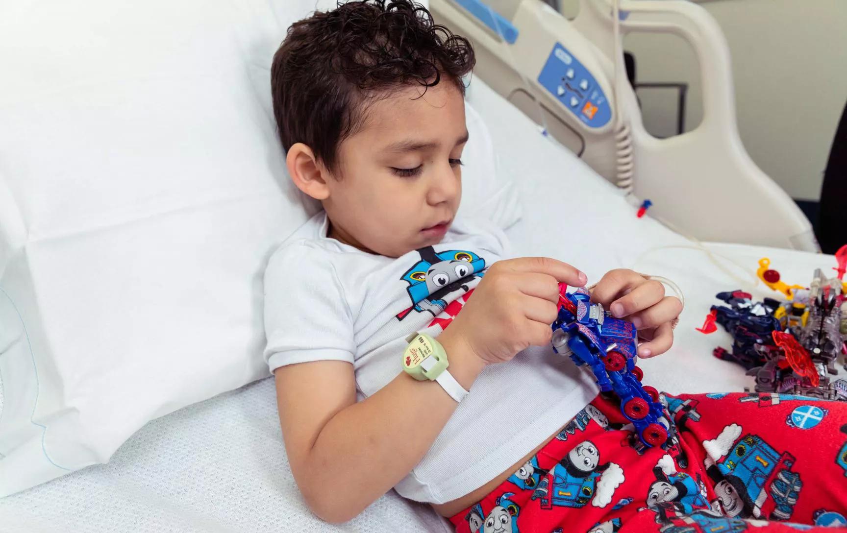
[[[439,340],[448,353],[458,344],[486,364],[511,360],[530,345],[550,343],[559,283],[583,287],[586,281],[583,272],[549,257],[497,261]]]

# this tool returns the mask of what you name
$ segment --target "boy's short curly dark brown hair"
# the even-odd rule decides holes
[[[339,2],[294,23],[271,66],[274,117],[285,151],[309,146],[329,169],[368,102],[404,85],[450,80],[464,94],[473,48],[411,0]]]

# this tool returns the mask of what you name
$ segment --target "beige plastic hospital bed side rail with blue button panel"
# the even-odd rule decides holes
[[[581,0],[568,20],[541,0],[431,0],[436,22],[468,37],[474,75],[601,176],[650,199],[650,215],[700,240],[817,251],[811,223],[756,166],[735,122],[729,51],[715,19],[684,0]],[[615,39],[673,33],[700,62],[703,120],[669,139],[650,135]],[[618,44],[617,49],[621,49]],[[616,87],[617,84],[617,87]],[[619,96],[616,101],[616,94]]]

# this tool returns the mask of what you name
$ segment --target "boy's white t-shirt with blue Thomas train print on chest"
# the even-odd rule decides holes
[[[495,261],[507,235],[457,219],[439,245],[397,258],[327,238],[325,212],[274,252],[265,271],[265,358],[342,360],[367,398],[402,371],[405,338],[437,336]],[[424,459],[395,487],[428,503],[462,497],[515,464],[594,398],[593,380],[550,348],[524,350],[479,374]]]

